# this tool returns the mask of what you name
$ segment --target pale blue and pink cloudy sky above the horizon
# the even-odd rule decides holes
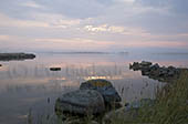
[[[188,51],[188,0],[1,0],[0,52]]]

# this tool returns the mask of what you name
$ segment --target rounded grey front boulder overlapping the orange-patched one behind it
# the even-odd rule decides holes
[[[94,90],[77,90],[56,100],[55,111],[72,114],[100,114],[105,111],[103,96]]]

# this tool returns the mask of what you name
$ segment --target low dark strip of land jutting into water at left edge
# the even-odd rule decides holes
[[[34,59],[32,53],[0,53],[0,61]]]

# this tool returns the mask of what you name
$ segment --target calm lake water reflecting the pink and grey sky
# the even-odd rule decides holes
[[[187,54],[36,54],[27,61],[0,62],[0,124],[27,124],[54,114],[54,102],[62,93],[79,89],[83,81],[106,79],[123,97],[123,103],[155,99],[164,83],[129,71],[128,64],[147,60],[160,65],[188,68]],[[49,68],[60,66],[59,72]],[[50,99],[50,102],[48,102]]]

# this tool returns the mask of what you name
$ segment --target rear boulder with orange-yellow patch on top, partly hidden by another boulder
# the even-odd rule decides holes
[[[118,95],[115,87],[111,82],[106,80],[90,80],[81,84],[81,90],[95,90],[100,92],[106,104],[112,105],[114,102],[121,102],[122,99]]]

